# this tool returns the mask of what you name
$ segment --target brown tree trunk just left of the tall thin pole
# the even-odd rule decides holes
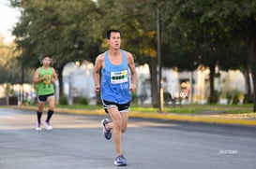
[[[158,72],[157,58],[151,57],[149,70],[151,79],[152,106],[158,107]]]

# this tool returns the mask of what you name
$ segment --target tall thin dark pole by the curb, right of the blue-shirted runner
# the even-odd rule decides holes
[[[161,66],[161,19],[160,19],[160,5],[158,2],[157,12],[157,35],[158,35],[158,106],[159,112],[163,112],[163,89],[162,89],[162,66]]]

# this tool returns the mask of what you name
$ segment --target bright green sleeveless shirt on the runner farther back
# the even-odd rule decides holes
[[[45,77],[45,80],[38,83],[38,95],[54,93],[54,87],[52,83],[53,68],[48,67],[48,69],[44,69],[43,67],[39,67],[39,77]]]

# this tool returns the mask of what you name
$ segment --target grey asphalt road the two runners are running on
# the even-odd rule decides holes
[[[0,169],[116,168],[102,118],[55,113],[53,131],[37,132],[35,112],[0,108]],[[253,126],[130,119],[123,146],[122,168],[256,168]]]

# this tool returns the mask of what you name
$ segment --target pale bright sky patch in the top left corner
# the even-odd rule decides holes
[[[9,43],[14,39],[11,30],[19,20],[20,11],[8,7],[8,0],[0,0],[0,35],[4,36],[4,42]]]

